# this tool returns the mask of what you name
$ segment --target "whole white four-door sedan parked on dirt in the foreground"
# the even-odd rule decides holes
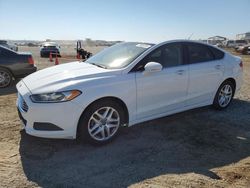
[[[17,107],[30,135],[102,144],[121,126],[206,105],[227,108],[242,72],[239,57],[207,44],[124,42],[24,78]]]

